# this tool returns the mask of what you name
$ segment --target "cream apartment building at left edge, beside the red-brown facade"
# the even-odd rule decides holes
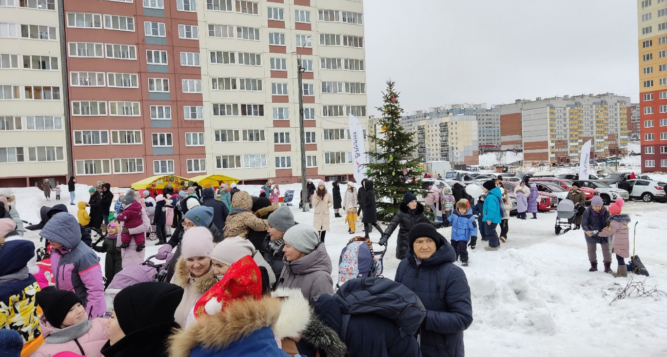
[[[53,0],[0,0],[0,187],[67,182],[67,122]]]

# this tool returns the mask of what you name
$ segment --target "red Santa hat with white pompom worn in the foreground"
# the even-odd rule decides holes
[[[231,264],[223,278],[199,298],[195,318],[213,316],[225,310],[227,304],[244,298],[261,300],[261,273],[251,256]]]

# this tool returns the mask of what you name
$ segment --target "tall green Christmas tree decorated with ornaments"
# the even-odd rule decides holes
[[[369,163],[366,173],[374,182],[378,220],[389,221],[398,212],[398,206],[406,192],[424,194],[418,181],[421,176],[421,157],[414,157],[417,144],[413,133],[408,133],[400,125],[403,109],[398,101],[399,93],[394,90],[394,82],[387,82],[384,105],[378,107],[382,119],[378,126],[382,132],[368,135],[370,147],[378,147],[368,152]]]

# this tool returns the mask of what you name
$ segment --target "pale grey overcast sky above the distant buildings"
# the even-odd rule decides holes
[[[639,99],[634,0],[364,0],[370,114],[613,92]]]

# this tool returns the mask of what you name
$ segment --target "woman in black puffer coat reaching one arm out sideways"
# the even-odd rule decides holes
[[[403,202],[398,206],[399,211],[394,215],[394,219],[390,222],[387,229],[380,239],[380,246],[386,246],[389,242],[389,238],[396,230],[396,227],[400,227],[398,230],[398,240],[396,242],[396,259],[404,260],[408,254],[408,233],[410,229],[418,223],[428,223],[432,224],[435,228],[440,228],[443,225],[448,226],[449,221],[436,221],[432,222],[424,214],[424,205],[417,202],[416,196],[411,192],[407,192],[403,195]]]

